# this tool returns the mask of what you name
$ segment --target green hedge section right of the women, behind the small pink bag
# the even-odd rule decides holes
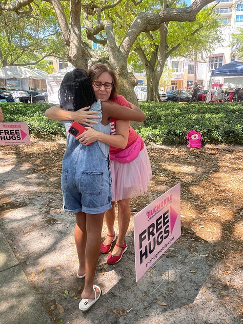
[[[138,132],[146,143],[185,145],[187,133],[196,130],[204,144],[243,144],[241,104],[143,103],[147,119]]]

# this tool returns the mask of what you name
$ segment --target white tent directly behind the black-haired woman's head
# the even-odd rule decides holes
[[[65,69],[59,70],[52,74],[48,74],[46,78],[46,83],[47,83],[47,94],[48,94],[49,103],[56,104],[56,105],[59,104],[58,91],[60,88],[60,84],[62,83],[64,75],[67,72],[70,72],[74,69],[75,67],[73,65],[70,65]]]

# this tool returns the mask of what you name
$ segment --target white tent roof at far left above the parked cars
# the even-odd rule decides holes
[[[1,79],[23,79],[23,78],[33,78],[33,79],[46,79],[48,73],[38,69],[28,69],[15,65],[5,66],[0,69],[0,78]]]

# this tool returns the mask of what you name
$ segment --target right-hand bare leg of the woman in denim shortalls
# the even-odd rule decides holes
[[[85,250],[85,287],[82,298],[94,299],[94,277],[99,257],[100,236],[103,227],[104,213],[86,215],[86,250]]]

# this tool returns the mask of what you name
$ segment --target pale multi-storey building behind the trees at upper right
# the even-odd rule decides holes
[[[194,71],[196,80],[202,88],[207,89],[211,72],[221,65],[230,63],[232,60],[237,60],[237,57],[232,55],[230,42],[231,33],[237,32],[237,27],[243,27],[243,3],[238,0],[216,0],[213,4],[216,12],[220,14],[220,21],[224,25],[219,37],[224,39],[222,47],[215,48],[212,55],[205,60],[197,60],[191,62],[183,57],[170,58],[168,66],[174,71],[173,78],[169,89],[190,89],[193,86]],[[224,83],[222,77],[216,77],[212,83]]]

